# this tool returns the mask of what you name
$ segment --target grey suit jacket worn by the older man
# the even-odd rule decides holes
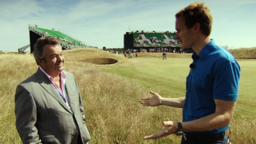
[[[83,143],[90,140],[76,78],[65,72],[70,108],[39,68],[17,86],[16,128],[23,143],[75,144],[78,133]]]

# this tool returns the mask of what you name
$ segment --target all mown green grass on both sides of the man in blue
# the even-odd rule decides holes
[[[147,88],[159,90],[163,97],[183,97],[186,93],[186,77],[191,58],[132,58],[131,65],[102,66],[105,72],[127,77]],[[255,118],[256,111],[256,60],[237,60],[241,67],[239,99],[236,113],[247,118]],[[253,119],[255,120],[255,119]]]

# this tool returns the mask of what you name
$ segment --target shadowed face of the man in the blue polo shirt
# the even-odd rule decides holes
[[[193,47],[195,42],[195,36],[192,35],[192,28],[188,29],[188,26],[185,25],[185,19],[183,16],[180,16],[176,19],[175,28],[177,33],[175,39],[179,40],[181,44],[181,49],[187,49],[188,47]]]

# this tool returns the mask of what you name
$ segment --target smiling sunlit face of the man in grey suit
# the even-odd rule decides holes
[[[42,67],[47,74],[52,77],[57,76],[63,70],[64,56],[62,48],[59,44],[44,45],[45,59],[40,60],[40,67]]]

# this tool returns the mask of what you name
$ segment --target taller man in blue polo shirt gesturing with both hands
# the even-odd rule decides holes
[[[194,50],[186,78],[186,97],[164,98],[151,92],[144,106],[183,108],[183,122],[163,122],[164,129],[144,140],[169,134],[182,136],[181,143],[230,143],[225,131],[234,115],[240,67],[235,58],[210,39],[212,15],[204,3],[194,2],[176,13],[175,38],[181,48]]]

